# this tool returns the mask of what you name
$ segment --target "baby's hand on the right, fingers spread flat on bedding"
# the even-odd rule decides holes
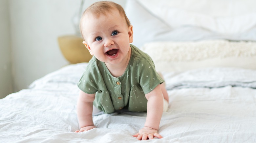
[[[162,138],[162,136],[158,134],[156,129],[152,129],[150,127],[143,127],[139,130],[139,133],[133,136],[137,137],[137,139],[139,140],[154,139],[154,137]]]

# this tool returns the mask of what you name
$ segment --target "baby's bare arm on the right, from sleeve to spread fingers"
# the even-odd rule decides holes
[[[147,118],[145,125],[139,130],[139,133],[133,135],[139,140],[153,139],[154,137],[162,138],[158,134],[159,124],[163,113],[163,96],[160,85],[146,94],[147,103]]]

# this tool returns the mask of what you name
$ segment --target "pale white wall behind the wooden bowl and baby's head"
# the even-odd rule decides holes
[[[6,0],[7,1],[7,0]],[[96,0],[85,0],[85,7]],[[125,0],[115,0],[125,5]],[[80,0],[9,0],[14,91],[68,62],[57,37],[75,34],[73,17]]]

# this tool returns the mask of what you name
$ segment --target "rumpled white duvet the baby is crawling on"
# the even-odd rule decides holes
[[[132,135],[146,113],[94,116],[97,128],[74,133],[76,83],[85,66],[66,66],[1,99],[0,142],[138,141]],[[256,70],[211,67],[163,75],[170,89],[159,129],[163,138],[139,142],[256,142]]]

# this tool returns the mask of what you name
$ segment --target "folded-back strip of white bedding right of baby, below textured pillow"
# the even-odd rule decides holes
[[[166,73],[166,88],[217,88],[217,87],[249,87],[256,88],[256,70],[239,68],[204,68],[184,71],[178,74]]]

